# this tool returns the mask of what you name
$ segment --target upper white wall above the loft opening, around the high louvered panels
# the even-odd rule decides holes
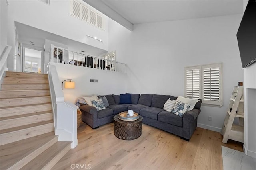
[[[38,0],[8,2],[8,44],[12,46],[14,46],[14,21],[17,21],[108,51],[108,17],[104,14],[102,16],[105,21],[105,31],[71,16],[68,0],[51,0],[50,5]],[[103,43],[86,37],[88,34],[102,39]],[[14,56],[13,50],[8,57],[9,70],[13,70],[14,57],[12,56]]]

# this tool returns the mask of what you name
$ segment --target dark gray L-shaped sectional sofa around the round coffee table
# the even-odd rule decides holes
[[[133,110],[143,117],[143,123],[180,136],[189,141],[197,126],[197,116],[200,113],[202,100],[196,103],[194,109],[186,112],[183,117],[163,109],[165,102],[177,97],[159,94],[131,94],[131,103],[121,103],[119,95],[104,95],[109,103],[106,109],[97,111],[93,106],[81,105],[82,121],[93,129],[113,121],[114,115]],[[103,96],[102,96],[103,97]]]

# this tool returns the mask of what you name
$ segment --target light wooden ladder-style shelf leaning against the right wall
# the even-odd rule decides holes
[[[239,125],[233,124],[235,117],[238,117]],[[222,135],[223,143],[227,143],[228,139],[244,142],[243,86],[234,86],[222,127]]]

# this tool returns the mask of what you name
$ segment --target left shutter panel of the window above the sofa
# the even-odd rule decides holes
[[[192,99],[200,98],[200,67],[185,69],[186,72],[186,97]]]

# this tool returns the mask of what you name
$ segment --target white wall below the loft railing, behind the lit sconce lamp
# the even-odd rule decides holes
[[[53,64],[56,65],[60,86],[61,82],[66,79],[72,79],[72,81],[75,82],[75,89],[63,88],[65,101],[75,103],[79,96],[126,93],[126,73],[111,72],[108,70],[99,70],[96,68],[73,66],[69,64]],[[97,79],[98,83],[92,83],[90,82],[90,79]]]

